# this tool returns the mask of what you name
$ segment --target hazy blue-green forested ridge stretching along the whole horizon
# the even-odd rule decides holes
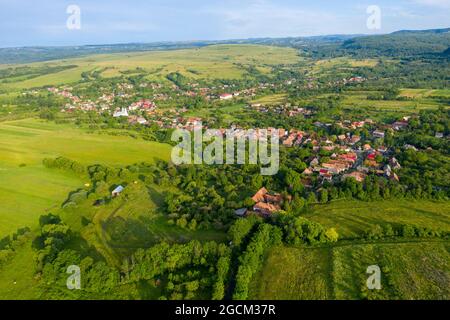
[[[261,44],[293,47],[311,56],[410,57],[448,55],[450,28],[400,30],[385,35],[325,35],[313,37],[256,38],[220,41],[185,41],[85,45],[67,47],[0,48],[0,64],[67,59],[100,53],[201,48],[215,44]]]

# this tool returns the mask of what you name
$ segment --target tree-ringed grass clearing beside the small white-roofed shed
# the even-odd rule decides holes
[[[169,225],[167,218],[159,212],[165,191],[160,186],[148,187],[137,181],[126,187],[126,195],[105,205],[93,206],[97,199],[94,197],[76,207],[61,209],[60,215],[72,230],[80,233],[83,242],[93,245],[113,265],[120,264],[134,250],[151,247],[160,241],[222,242],[226,239],[225,233],[216,230],[190,231]]]

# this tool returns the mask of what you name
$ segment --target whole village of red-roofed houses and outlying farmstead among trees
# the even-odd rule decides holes
[[[361,83],[362,77],[352,77],[339,81],[340,84]],[[287,80],[283,86],[296,85],[295,79]],[[332,83],[330,85],[337,85]],[[181,104],[175,107],[180,97],[195,99],[203,97],[208,104],[245,103],[243,110],[250,114],[272,117],[280,115],[287,118],[300,117],[313,119],[316,110],[311,107],[302,107],[291,103],[265,103],[252,102],[260,91],[267,88],[276,88],[277,85],[262,83],[249,89],[235,88],[235,85],[201,86],[189,84],[188,89],[180,89],[176,85],[169,88],[162,84],[141,83],[138,88],[151,89],[148,98],[135,93],[136,86],[129,83],[120,83],[114,93],[102,93],[98,99],[83,99],[72,93],[72,88],[48,88],[48,91],[66,98],[69,102],[61,109],[62,113],[95,112],[113,119],[122,124],[131,126],[155,127],[157,129],[172,130],[185,129],[193,131],[198,126],[202,130],[215,129],[218,134],[232,133],[236,138],[260,139],[260,130],[248,130],[248,125],[235,122],[228,127],[217,127],[212,117],[195,116],[187,106]],[[313,88],[314,86],[307,86]],[[166,90],[165,90],[166,89]],[[167,89],[169,91],[167,91]],[[172,92],[172,94],[170,93]],[[172,101],[173,100],[173,101]],[[170,101],[169,104],[167,102]],[[119,107],[120,104],[126,106]],[[160,107],[160,105],[162,107]],[[405,130],[409,126],[411,116],[402,116],[390,124],[378,123],[369,118],[355,120],[355,118],[341,119],[330,122],[313,122],[312,129],[297,129],[295,127],[268,127],[267,132],[277,130],[279,144],[291,150],[309,150],[310,156],[302,159],[306,168],[301,172],[301,183],[310,191],[317,192],[321,186],[333,185],[346,179],[354,179],[356,183],[364,183],[368,176],[384,177],[393,182],[399,182],[398,172],[402,166],[395,158],[393,150],[384,144],[386,135],[393,136],[395,132]],[[338,128],[339,134],[333,134],[332,128]],[[438,135],[436,134],[436,137]],[[442,136],[443,137],[443,136]],[[404,149],[418,150],[415,146],[405,144]],[[294,151],[296,152],[296,151]],[[252,197],[252,207],[237,209],[235,214],[243,217],[257,214],[269,217],[282,210],[285,201],[291,201],[290,196],[282,196],[276,190],[262,188]]]

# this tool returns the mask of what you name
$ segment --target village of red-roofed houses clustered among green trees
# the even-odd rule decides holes
[[[353,77],[348,80],[343,79],[343,83],[362,82],[365,79],[361,77]],[[292,85],[294,80],[288,80],[284,85]],[[266,89],[274,86],[273,84],[263,83],[259,87],[234,91],[233,93],[213,93],[224,90],[230,90],[233,86],[223,85],[217,87],[201,87],[198,84],[190,84],[191,90],[183,91],[175,85],[171,86],[172,90],[176,90],[176,95],[185,95],[193,97],[196,95],[204,96],[208,101],[227,101],[236,99],[237,97],[254,97],[258,90]],[[130,125],[141,126],[157,126],[161,129],[187,129],[194,128],[203,122],[207,123],[209,119],[202,119],[196,116],[186,116],[188,109],[181,108],[159,108],[158,104],[162,101],[171,99],[167,93],[161,91],[161,84],[141,83],[140,88],[150,87],[154,90],[153,95],[148,99],[139,99],[129,103],[127,107],[116,107],[117,99],[133,99],[134,86],[128,83],[120,83],[117,85],[118,93],[104,93],[97,100],[85,100],[77,95],[72,94],[72,88],[62,87],[48,88],[48,91],[69,99],[62,109],[63,113],[71,113],[74,111],[97,112],[110,114],[113,118],[126,119]],[[314,110],[299,106],[293,106],[289,103],[279,104],[275,106],[267,106],[263,103],[249,103],[245,107],[252,112],[283,114],[287,117],[296,117],[298,115],[304,118],[310,118],[314,115]],[[205,121],[206,120],[206,121]],[[312,156],[307,161],[307,168],[301,172],[302,183],[306,187],[311,186],[313,177],[317,178],[320,183],[333,183],[342,179],[353,178],[357,182],[363,182],[369,174],[384,176],[388,179],[399,181],[397,170],[401,169],[399,162],[392,156],[392,152],[380,141],[383,141],[387,132],[394,132],[405,129],[408,126],[410,117],[405,116],[392,124],[377,124],[371,119],[360,121],[337,121],[336,123],[314,122],[316,128],[325,129],[335,125],[345,131],[339,135],[322,134],[316,131],[303,131],[295,128],[277,128],[279,134],[279,143],[285,148],[309,148]],[[361,137],[355,133],[360,129],[369,130],[369,136]],[[208,129],[208,125],[204,124],[203,129]],[[232,131],[235,137],[248,139],[258,138],[258,129],[255,129],[256,135],[249,135],[245,131],[245,127],[234,124],[228,128],[215,128],[222,134],[225,131]],[[267,128],[270,133],[275,128]],[[414,146],[405,145],[405,148],[415,148]],[[267,190],[266,190],[267,191]],[[261,192],[264,193],[264,192]],[[279,210],[279,202],[281,199],[275,196],[264,195],[256,196],[257,204],[253,210],[261,212],[264,215]],[[265,200],[264,200],[265,199]],[[269,200],[267,200],[269,199]],[[242,215],[241,210],[238,214]]]

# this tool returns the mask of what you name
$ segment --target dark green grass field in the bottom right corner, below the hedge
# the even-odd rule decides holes
[[[448,242],[276,247],[251,284],[253,299],[449,299]],[[367,267],[381,269],[368,290]]]

